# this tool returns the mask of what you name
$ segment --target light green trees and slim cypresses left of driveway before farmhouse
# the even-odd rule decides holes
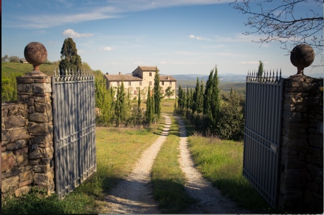
[[[161,90],[159,86],[159,74],[156,68],[154,88],[147,90],[146,110],[141,109],[141,92],[138,88],[137,105],[131,104],[131,92],[125,90],[124,82],[117,88],[106,89],[104,78],[96,79],[96,107],[100,113],[96,117],[99,126],[144,126],[149,127],[160,119],[161,115]],[[116,96],[115,96],[116,94]]]

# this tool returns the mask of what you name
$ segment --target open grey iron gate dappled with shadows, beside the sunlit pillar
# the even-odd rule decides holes
[[[59,198],[82,183],[96,166],[95,78],[52,77],[55,187]]]

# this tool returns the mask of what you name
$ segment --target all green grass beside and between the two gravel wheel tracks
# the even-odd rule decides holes
[[[189,134],[190,151],[205,178],[240,206],[255,213],[282,213],[273,209],[242,176],[242,142],[195,135],[193,127],[183,120]],[[163,126],[164,121],[153,124],[151,129],[97,127],[97,172],[62,200],[57,200],[56,194],[45,198],[44,192],[33,189],[22,197],[5,199],[2,213],[104,213],[104,197],[109,189],[128,175],[141,152],[156,140]],[[152,169],[154,196],[163,213],[181,213],[193,202],[184,190],[185,178],[178,163],[179,139],[179,126],[172,118],[170,135]]]

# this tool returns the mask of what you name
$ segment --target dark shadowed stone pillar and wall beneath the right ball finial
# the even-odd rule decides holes
[[[323,79],[285,79],[280,149],[279,207],[323,212]]]

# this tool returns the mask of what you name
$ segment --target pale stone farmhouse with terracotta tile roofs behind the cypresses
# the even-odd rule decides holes
[[[154,87],[155,66],[138,66],[132,74],[108,74],[106,78],[106,87],[118,87],[123,81],[125,90],[129,90],[132,98],[138,96],[138,88],[141,90],[141,98],[146,99],[147,89],[150,86],[151,90]],[[159,71],[159,70],[158,70]],[[161,93],[165,95],[166,89],[171,86],[174,94],[170,98],[176,98],[177,79],[171,75],[159,75]],[[144,95],[144,96],[143,96]],[[168,97],[166,97],[168,98]]]

